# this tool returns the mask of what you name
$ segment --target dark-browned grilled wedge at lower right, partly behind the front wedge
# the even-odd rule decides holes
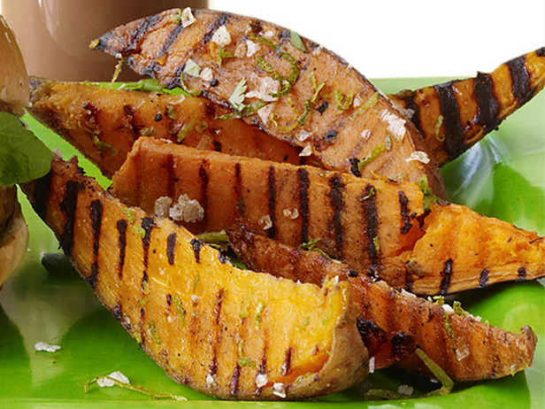
[[[491,327],[472,315],[396,291],[386,282],[372,282],[318,252],[290,248],[257,235],[242,224],[235,224],[227,233],[236,254],[255,271],[315,284],[333,276],[349,282],[359,305],[358,328],[375,369],[394,364],[426,373],[422,361],[411,353],[415,344],[455,381],[499,378],[532,366],[537,341],[532,328],[526,326],[518,335]],[[373,350],[368,343],[380,337],[382,348]]]

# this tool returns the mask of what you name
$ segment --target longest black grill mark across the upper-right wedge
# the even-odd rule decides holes
[[[449,159],[457,158],[465,150],[464,127],[460,122],[460,111],[453,85],[454,82],[450,81],[434,86],[439,96],[441,116],[445,127],[444,146]]]

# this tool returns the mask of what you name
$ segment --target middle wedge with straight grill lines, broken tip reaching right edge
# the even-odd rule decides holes
[[[122,201],[155,211],[187,195],[203,220],[194,233],[246,221],[297,247],[318,246],[352,268],[416,294],[448,294],[545,275],[545,239],[458,204],[433,204],[411,182],[365,180],[314,166],[195,150],[140,138],[112,178]]]

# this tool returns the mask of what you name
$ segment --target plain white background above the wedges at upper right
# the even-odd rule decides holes
[[[369,78],[469,76],[545,46],[545,0],[209,0],[333,50]]]

